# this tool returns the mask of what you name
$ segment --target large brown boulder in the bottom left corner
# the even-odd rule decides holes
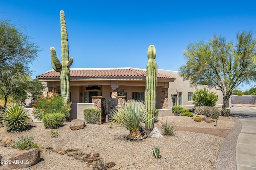
[[[8,160],[12,162],[8,164],[11,169],[28,168],[40,160],[40,150],[37,148],[22,150]]]

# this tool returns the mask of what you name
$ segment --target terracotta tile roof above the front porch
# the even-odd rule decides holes
[[[100,77],[145,77],[146,70],[142,69],[134,69],[134,68],[116,68],[116,69],[104,69],[104,68],[95,68],[95,69],[74,69],[70,68],[70,79],[76,78],[100,78]],[[166,76],[164,74],[157,74],[158,78],[168,78],[168,79],[175,79],[170,76]],[[37,76],[38,79],[40,78],[60,78],[60,73],[54,70],[50,70],[44,74]]]

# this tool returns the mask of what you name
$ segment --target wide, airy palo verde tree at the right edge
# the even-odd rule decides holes
[[[189,43],[184,51],[186,65],[179,68],[184,80],[192,86],[207,82],[223,94],[226,108],[233,90],[242,82],[256,80],[256,39],[252,31],[236,34],[236,44],[224,36],[213,35],[208,43]]]

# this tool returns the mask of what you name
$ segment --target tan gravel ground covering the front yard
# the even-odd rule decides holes
[[[195,122],[191,117],[169,116],[159,117],[160,121],[168,119],[179,127],[203,127],[232,129],[234,120],[230,117],[220,117],[218,126],[215,123]],[[159,122],[157,124],[160,124]],[[60,137],[52,138],[51,129],[45,129],[42,123],[34,123],[33,127],[18,134],[7,133],[4,127],[0,128],[0,139],[11,138],[18,141],[21,135],[34,135],[34,142],[44,147],[54,149],[79,148],[86,153],[100,154],[103,161],[121,164],[122,169],[130,170],[214,170],[218,160],[220,147],[225,138],[202,133],[176,131],[175,136],[163,138],[147,138],[141,142],[128,140],[129,131],[114,127],[110,129],[107,124],[87,124],[84,129],[70,130],[70,123],[65,122],[58,129]],[[88,147],[89,146],[89,147]],[[152,148],[160,147],[162,157],[154,158]],[[17,149],[0,147],[3,160]],[[0,169],[3,166],[0,166]],[[41,161],[28,170],[87,170],[85,163],[73,158],[52,152],[41,152]]]

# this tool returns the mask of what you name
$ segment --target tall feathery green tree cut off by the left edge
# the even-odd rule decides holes
[[[13,25],[9,20],[0,20],[0,98],[4,106],[8,97],[14,94],[14,89],[21,80],[31,74],[29,63],[37,57],[40,51],[24,33],[24,27]]]

